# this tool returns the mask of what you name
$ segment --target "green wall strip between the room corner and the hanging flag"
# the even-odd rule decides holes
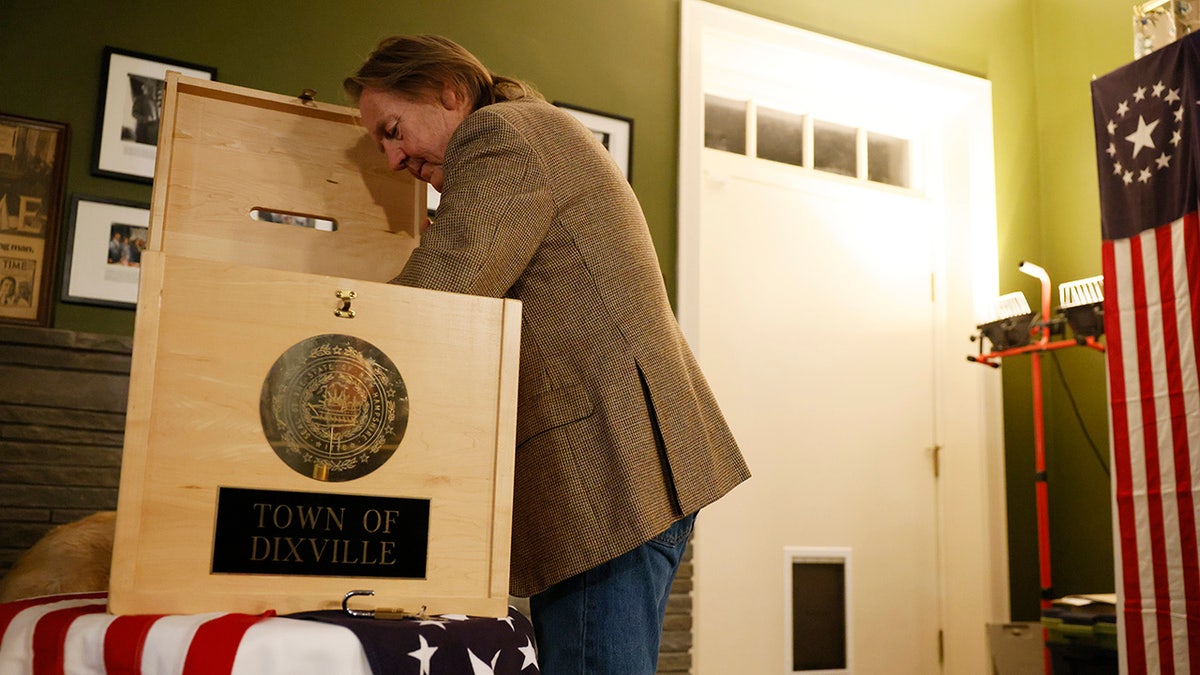
[[[1058,283],[1102,271],[1090,83],[1093,77],[1133,60],[1134,2],[1036,0],[1033,5],[1036,143],[1040,161],[1038,225],[1030,244],[1032,251],[1040,251],[1040,258],[1031,259],[1045,267]],[[1012,277],[1013,288],[1037,297],[1034,280],[1021,274]],[[1057,301],[1055,289],[1054,303]],[[1064,350],[1043,359],[1043,364],[1054,590],[1056,595],[1111,592],[1115,586],[1104,356],[1091,350]],[[1032,424],[1021,422],[1016,396],[1010,394],[1019,378],[1024,380],[1021,387],[1030,390],[1030,369],[1021,370],[1019,376],[1007,372],[1004,380],[1010,476],[1028,476],[1033,466]],[[1072,405],[1072,399],[1078,406]],[[1026,419],[1032,414],[1030,410],[1025,407]],[[1013,471],[1016,462],[1026,462],[1027,471]],[[1009,497],[1012,501],[1012,490]],[[1032,497],[1028,500],[1032,503]],[[1021,504],[1012,504],[1010,513],[1019,508]],[[1016,536],[1010,528],[1010,538]]]

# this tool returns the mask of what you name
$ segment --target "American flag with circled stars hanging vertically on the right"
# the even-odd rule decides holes
[[[1122,673],[1200,673],[1200,34],[1092,82]]]

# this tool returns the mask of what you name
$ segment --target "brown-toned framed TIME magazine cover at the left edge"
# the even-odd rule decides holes
[[[50,324],[68,136],[0,114],[0,321]]]

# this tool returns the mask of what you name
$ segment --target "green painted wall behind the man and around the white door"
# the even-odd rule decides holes
[[[1039,262],[1056,281],[1099,273],[1087,79],[1129,60],[1128,0],[719,4],[990,79],[1001,289],[1025,291],[1036,303],[1036,282],[1015,271],[1022,259]],[[679,0],[8,0],[0,12],[0,110],[70,124],[68,195],[148,202],[149,186],[90,173],[106,46],[216,66],[222,82],[277,92],[312,88],[318,100],[344,103],[342,77],[378,38],[443,34],[547,98],[635,119],[634,187],[673,288],[678,29]],[[54,325],[128,335],[133,312],[59,303]],[[1061,362],[1106,458],[1103,362],[1076,352]],[[1108,484],[1084,454],[1050,368],[1048,360],[1056,587],[1111,590]],[[1036,617],[1038,597],[1028,370],[1003,369],[1015,619]]]

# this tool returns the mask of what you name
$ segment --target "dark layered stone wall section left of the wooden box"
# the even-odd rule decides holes
[[[55,525],[116,508],[131,351],[0,325],[0,575]]]

